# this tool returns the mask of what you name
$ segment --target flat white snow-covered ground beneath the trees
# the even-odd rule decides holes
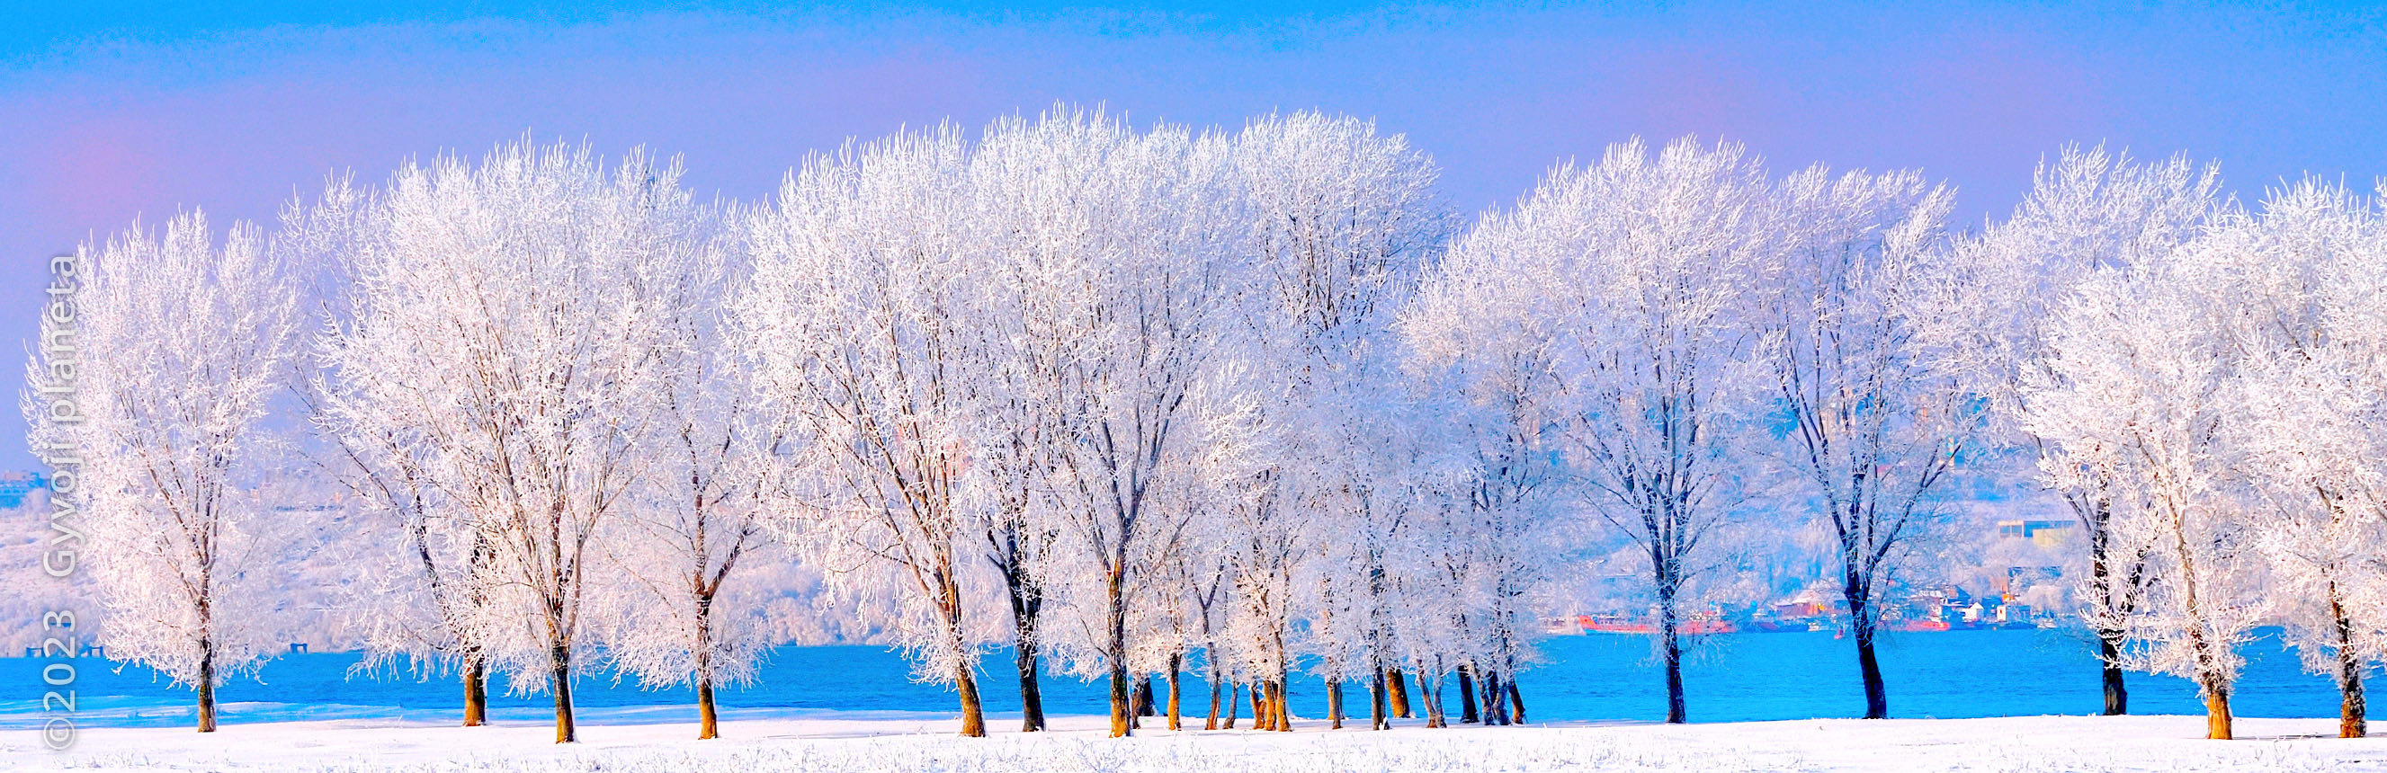
[[[1781,721],[1716,725],[1535,725],[1392,732],[1100,735],[1103,718],[1057,718],[1048,735],[950,735],[943,718],[745,718],[723,740],[692,725],[446,728],[387,721],[88,730],[43,752],[0,740],[7,771],[2387,771],[2387,740],[2323,737],[2327,718],[2241,718],[2208,742],[2196,716],[2027,716],[1969,721]],[[1005,728],[998,723],[998,728]]]

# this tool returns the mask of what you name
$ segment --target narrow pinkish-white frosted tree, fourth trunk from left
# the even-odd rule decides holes
[[[664,324],[652,375],[661,406],[642,439],[644,480],[616,539],[618,568],[597,613],[609,661],[642,687],[695,687],[697,737],[718,737],[714,687],[754,680],[769,639],[752,565],[781,558],[769,503],[802,439],[754,396],[754,346],[733,329],[747,262],[721,208],[680,210],[685,243],[640,282]],[[800,470],[797,470],[800,472]],[[745,570],[740,570],[745,568]],[[735,582],[733,582],[735,577]]]

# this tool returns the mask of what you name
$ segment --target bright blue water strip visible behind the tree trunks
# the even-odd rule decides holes
[[[2327,678],[2306,675],[2294,651],[2265,635],[2246,644],[2246,670],[2234,709],[2239,716],[2337,716],[2337,689]],[[1542,642],[1547,663],[1521,680],[1528,718],[1542,721],[1657,721],[1666,689],[1649,658],[1649,637],[1585,635]],[[0,658],[7,685],[24,699],[0,699],[0,728],[36,728],[41,713],[41,658]],[[420,682],[408,675],[349,678],[356,654],[296,654],[275,658],[258,678],[217,689],[220,721],[291,718],[418,718],[454,721],[461,689],[454,680]],[[169,687],[146,668],[115,668],[98,658],[76,661],[74,682],[81,725],[186,725],[191,689]],[[2034,716],[2096,713],[2103,706],[2098,666],[2079,632],[2065,630],[1967,630],[1886,635],[1881,666],[1891,689],[1891,716]],[[986,709],[998,718],[1019,711],[1010,654],[983,661],[979,680]],[[1189,663],[1186,713],[1208,709],[1208,687]],[[878,647],[781,647],[747,689],[721,692],[723,716],[888,713],[907,718],[955,716],[952,689],[907,678],[902,658]],[[1828,632],[1702,637],[1685,668],[1692,721],[1781,721],[1859,716],[1852,644]],[[1165,689],[1165,682],[1155,682]],[[637,689],[609,675],[573,682],[587,721],[644,723],[690,721],[687,689]],[[1456,682],[1449,711],[1458,711]],[[547,697],[499,694],[494,718],[539,721],[551,716]],[[1105,713],[1108,689],[1077,678],[1046,678],[1048,713]],[[1325,687],[1296,678],[1296,716],[1325,716]],[[1351,709],[1365,711],[1365,692],[1349,689]],[[2373,701],[2380,706],[2387,701]],[[2201,713],[2196,687],[2177,678],[2129,675],[2132,713]],[[1248,718],[1248,709],[1241,711]],[[2377,711],[2373,711],[2377,713]],[[1005,728],[1003,721],[993,723]]]

